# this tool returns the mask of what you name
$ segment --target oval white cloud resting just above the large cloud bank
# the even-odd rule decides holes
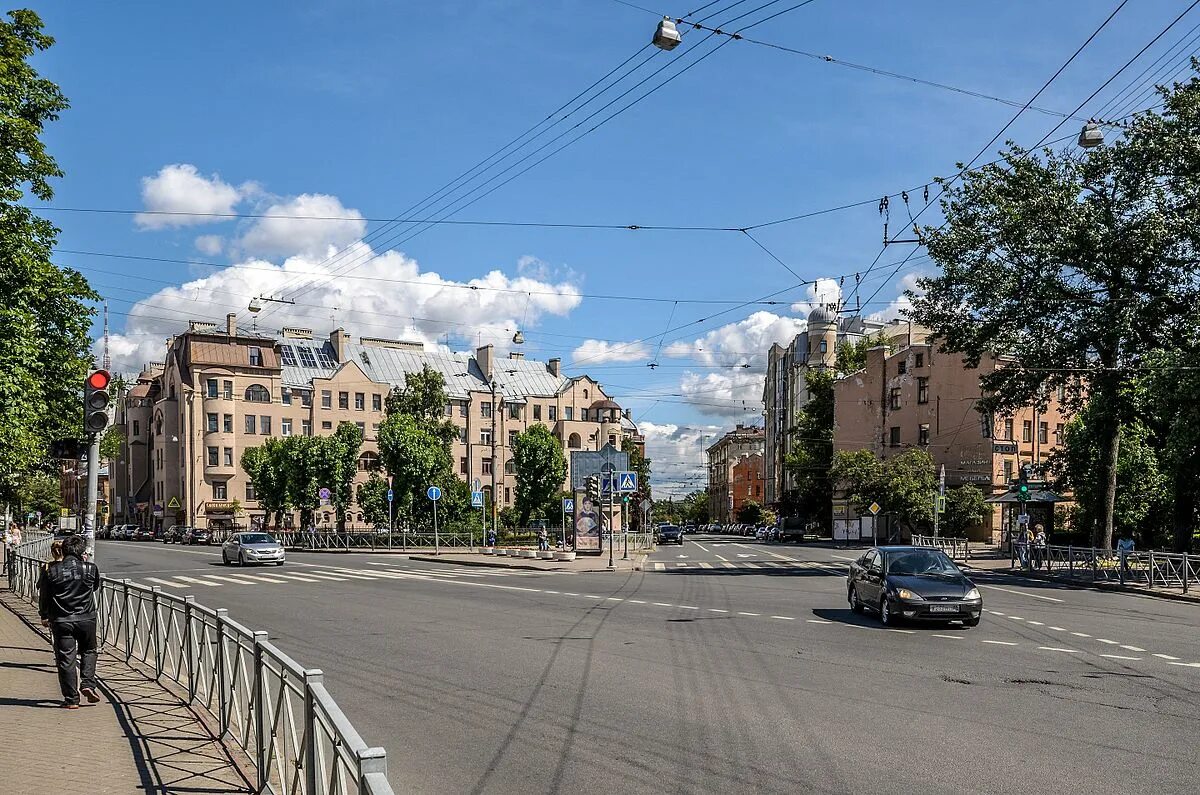
[[[329,256],[361,238],[367,228],[361,213],[323,193],[301,193],[271,204],[262,214],[268,217],[256,219],[238,240],[241,251],[259,257]]]

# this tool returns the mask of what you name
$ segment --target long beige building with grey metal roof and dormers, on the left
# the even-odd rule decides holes
[[[322,340],[308,329],[284,328],[276,339],[240,331],[230,315],[224,328],[192,322],[169,341],[163,364],[149,365],[120,401],[128,521],[260,521],[241,454],[271,436],[329,435],[342,422],[364,432],[356,483],[366,480],[379,465],[376,436],[388,393],[425,365],[445,379],[445,414],[458,428],[455,471],[468,483],[479,479],[497,508],[515,502],[510,447],[532,425],[550,428],[568,453],[620,447],[626,437],[642,443],[629,412],[593,378],[563,375],[559,359],[500,358],[492,346],[427,352],[419,342],[354,340],[343,329]],[[570,472],[564,488],[569,483]],[[352,525],[365,522],[356,506],[349,516]],[[320,513],[318,520],[332,516]]]

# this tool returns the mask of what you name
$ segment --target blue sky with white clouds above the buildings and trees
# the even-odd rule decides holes
[[[1117,0],[690,2],[35,2],[56,38],[36,66],[72,107],[46,135],[66,175],[31,204],[108,300],[114,370],[227,312],[454,351],[521,329],[634,411],[678,496],[719,434],[761,424],[766,352],[816,303],[896,317],[936,270],[882,250],[880,197],[936,225],[924,186],[1014,115],[1028,145],[1064,121],[1043,109],[1082,103],[1056,139],[1150,107],[1200,38],[1193,11],[1085,102],[1189,5],[1128,0],[1018,114]],[[766,43],[647,46],[691,11]]]

